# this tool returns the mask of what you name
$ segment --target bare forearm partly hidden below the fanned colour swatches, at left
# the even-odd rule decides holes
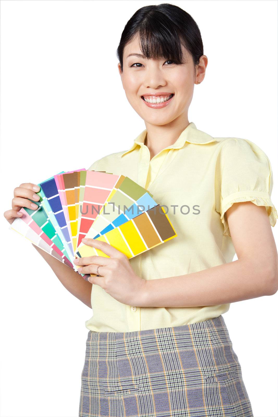
[[[43,259],[45,259],[63,286],[76,298],[86,304],[86,306],[92,308],[92,284],[89,281],[85,281],[83,277],[78,274],[78,272],[58,261],[58,259],[46,253],[43,249],[38,248],[38,246],[35,246],[34,244],[33,246]]]

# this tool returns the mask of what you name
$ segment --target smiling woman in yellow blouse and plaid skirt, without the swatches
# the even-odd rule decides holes
[[[78,288],[73,270],[36,247],[63,285],[94,306],[85,323],[79,416],[253,416],[222,314],[230,302],[278,288],[269,159],[253,142],[213,138],[189,123],[208,59],[184,10],[140,8],[125,25],[118,59],[126,96],[146,129],[128,151],[89,169],[148,189],[177,237],[129,260],[105,242],[83,239],[108,257],[76,260],[82,273],[96,274]],[[15,188],[8,221],[21,206],[31,208],[33,187]]]

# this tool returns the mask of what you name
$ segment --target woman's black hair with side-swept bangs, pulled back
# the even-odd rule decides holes
[[[123,72],[125,45],[138,36],[140,49],[146,59],[168,59],[183,63],[181,45],[190,53],[193,64],[203,55],[203,41],[195,20],[185,10],[170,3],[144,6],[126,23],[117,48]]]

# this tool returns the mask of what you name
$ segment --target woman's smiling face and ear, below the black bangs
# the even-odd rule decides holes
[[[203,65],[203,60],[200,61],[201,65],[196,68],[197,77],[195,77],[191,55],[184,47],[182,48],[185,59],[180,65],[170,60],[148,60],[131,55],[142,54],[138,39],[124,48],[123,73],[120,72],[120,63],[118,69],[125,95],[130,105],[146,123],[162,126],[171,123],[179,116],[187,118],[194,84],[198,80],[200,82],[203,80],[206,64]],[[159,96],[152,97],[153,93],[158,93]],[[160,93],[163,93],[163,100],[160,100],[162,98]],[[173,97],[167,100],[172,94]],[[143,96],[150,103],[146,103]]]

